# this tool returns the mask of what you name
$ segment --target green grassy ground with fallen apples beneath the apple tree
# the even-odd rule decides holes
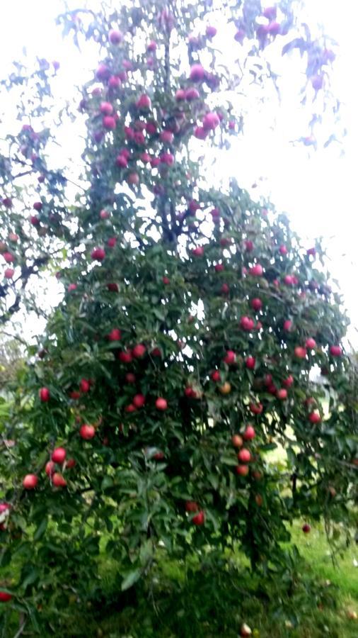
[[[333,566],[321,527],[304,535],[295,525],[293,538],[307,562],[299,572],[304,584],[296,586],[289,605],[282,596],[285,587],[273,589],[262,578],[255,581],[240,555],[235,560],[243,566],[239,573],[230,569],[230,561],[219,569],[204,561],[199,570],[179,561],[160,561],[160,578],[154,578],[150,591],[132,601],[129,593],[123,601],[115,586],[115,564],[103,556],[100,571],[105,596],[92,600],[85,610],[75,602],[69,605],[63,633],[59,630],[56,635],[237,638],[246,622],[255,638],[357,638],[358,621],[348,613],[358,612],[358,568],[354,566],[358,551],[348,548]],[[318,578],[321,589],[310,589],[311,578]]]

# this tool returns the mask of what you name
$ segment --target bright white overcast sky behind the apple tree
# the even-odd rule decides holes
[[[272,3],[273,4],[273,3]],[[331,262],[330,272],[340,281],[352,320],[350,341],[358,347],[358,251],[357,251],[357,170],[358,170],[358,89],[357,24],[358,3],[352,0],[307,0],[308,23],[321,22],[326,33],[340,45],[335,62],[334,89],[345,103],[345,157],[335,145],[308,153],[289,144],[291,124],[299,118],[288,100],[280,109],[275,131],[257,118],[244,138],[229,153],[227,168],[239,184],[248,188],[258,181],[260,192],[270,196],[277,209],[287,211],[294,228],[308,244],[324,235]],[[81,1],[78,2],[81,6]],[[64,91],[81,77],[81,68],[95,60],[83,60],[62,40],[54,17],[62,9],[61,0],[11,0],[1,9],[1,75],[11,60],[39,55],[59,60],[59,82]],[[78,82],[80,84],[80,82]],[[277,113],[275,113],[277,116]],[[305,131],[301,131],[305,134]],[[327,138],[330,130],[327,130]],[[253,193],[254,194],[254,193]],[[354,328],[353,328],[354,327]]]

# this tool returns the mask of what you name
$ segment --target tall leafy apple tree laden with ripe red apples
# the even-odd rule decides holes
[[[1,425],[4,627],[18,613],[53,629],[71,596],[100,597],[103,553],[118,591],[135,592],[163,557],[208,547],[287,576],[296,519],[309,532],[323,517],[333,539],[344,522],[350,537],[357,405],[323,248],[302,245],[234,177],[216,184],[205,163],[241,130],[238,88],[253,74],[275,81],[270,47],[299,48],[308,94],[325,91],[333,52],[293,4],[221,3],[227,55],[212,2],[59,16],[100,62],[76,115],[75,201],[65,171],[47,168],[48,130],[23,124],[1,164],[1,320],[41,269],[64,291]],[[42,61],[34,74],[6,82],[25,91],[35,77],[50,96],[53,69]],[[36,199],[16,167],[37,179]]]

